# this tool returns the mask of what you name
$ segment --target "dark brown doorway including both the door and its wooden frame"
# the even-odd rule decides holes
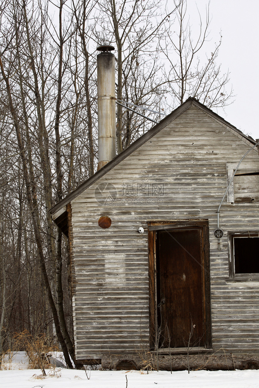
[[[149,264],[151,347],[210,348],[208,223],[150,225]]]

